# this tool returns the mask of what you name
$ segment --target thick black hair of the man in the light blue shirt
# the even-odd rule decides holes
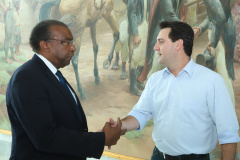
[[[192,55],[194,33],[191,26],[180,21],[164,21],[160,23],[159,26],[161,29],[171,28],[168,37],[172,40],[172,42],[182,39],[185,53],[189,57]]]

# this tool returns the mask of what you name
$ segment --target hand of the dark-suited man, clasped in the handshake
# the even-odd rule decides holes
[[[105,146],[112,146],[117,144],[117,141],[121,136],[121,127],[122,123],[120,121],[120,118],[118,118],[116,127],[112,127],[109,122],[105,123],[105,126],[103,127],[103,132],[105,133]]]

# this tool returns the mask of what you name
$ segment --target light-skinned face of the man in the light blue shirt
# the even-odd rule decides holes
[[[157,37],[157,43],[154,46],[154,50],[158,52],[158,63],[164,66],[169,66],[172,60],[174,60],[174,47],[175,42],[168,37],[171,28],[162,29]]]

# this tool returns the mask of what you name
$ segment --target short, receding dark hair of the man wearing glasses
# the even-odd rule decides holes
[[[34,52],[38,52],[40,50],[40,41],[47,41],[51,39],[52,33],[50,27],[52,26],[64,26],[67,27],[66,24],[57,20],[44,20],[39,22],[32,30],[29,43]],[[68,27],[67,27],[68,28]]]

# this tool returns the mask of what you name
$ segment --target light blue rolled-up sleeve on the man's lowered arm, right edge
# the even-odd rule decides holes
[[[210,85],[208,106],[217,128],[219,144],[240,142],[237,116],[223,78],[218,75]]]

